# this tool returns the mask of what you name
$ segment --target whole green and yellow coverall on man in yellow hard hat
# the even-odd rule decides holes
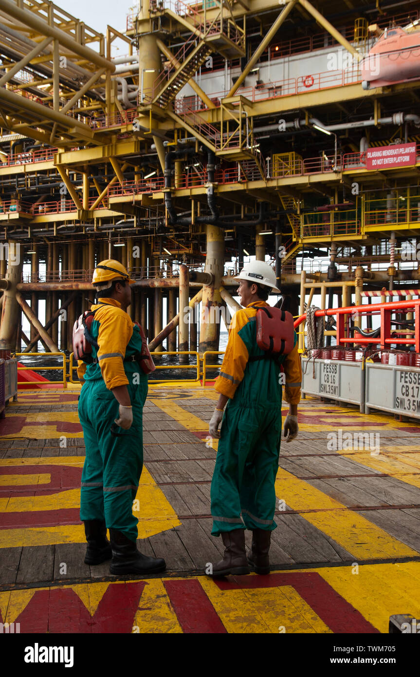
[[[147,375],[137,362],[123,357],[141,352],[139,328],[115,299],[101,299],[91,325],[97,364],[78,362],[83,382],[78,416],[83,427],[86,459],[80,489],[80,519],[105,519],[108,529],[118,529],[137,540],[138,519],[133,500],[143,468],[143,405],[147,396]],[[111,388],[126,385],[133,406],[133,424],[119,436],[111,434],[118,418],[119,404]]]

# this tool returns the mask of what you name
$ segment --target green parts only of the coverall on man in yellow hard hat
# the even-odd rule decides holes
[[[93,339],[96,340],[98,334],[99,322],[94,319],[91,325]],[[139,328],[133,326],[124,357],[140,352]],[[94,346],[92,355],[97,357]],[[114,423],[119,405],[106,387],[99,363],[88,364],[83,376],[85,383],[78,401],[78,416],[85,437],[86,460],[80,491],[80,519],[105,519],[108,529],[118,529],[135,541],[138,519],[133,515],[133,500],[143,468],[143,405],[147,396],[147,375],[137,362],[124,359],[123,364],[133,406],[133,424],[129,430]],[[112,435],[112,424],[118,436]]]

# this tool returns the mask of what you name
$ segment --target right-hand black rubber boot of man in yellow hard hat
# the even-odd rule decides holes
[[[130,540],[122,531],[110,529],[112,546],[112,562],[110,573],[158,573],[166,569],[166,562],[162,558],[147,557],[137,550],[135,541]]]

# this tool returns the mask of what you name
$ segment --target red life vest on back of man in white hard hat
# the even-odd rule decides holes
[[[294,347],[293,315],[281,308],[264,306],[256,313],[256,340],[264,357],[288,355]]]

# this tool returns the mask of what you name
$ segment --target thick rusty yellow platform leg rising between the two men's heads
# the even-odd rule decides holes
[[[215,225],[207,225],[206,273],[213,276],[210,285],[203,286],[202,317],[200,323],[200,353],[206,350],[218,350],[220,339],[220,285],[225,265],[225,237],[223,230]],[[180,325],[181,326],[181,325]]]

